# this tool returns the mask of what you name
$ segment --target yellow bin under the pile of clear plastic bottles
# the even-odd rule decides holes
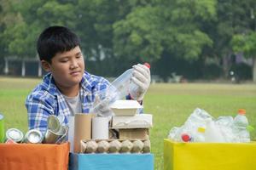
[[[256,170],[256,142],[178,143],[164,140],[165,170]]]

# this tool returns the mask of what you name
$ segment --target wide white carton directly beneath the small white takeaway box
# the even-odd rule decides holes
[[[112,128],[149,128],[153,126],[152,115],[113,116]]]

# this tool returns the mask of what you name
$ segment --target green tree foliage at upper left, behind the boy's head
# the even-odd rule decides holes
[[[51,25],[72,28],[76,18],[72,3],[58,1],[17,1],[10,3],[10,11],[20,20],[6,25],[3,39],[9,54],[19,57],[35,57],[38,34]]]

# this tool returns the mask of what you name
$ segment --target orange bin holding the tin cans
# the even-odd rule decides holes
[[[69,143],[0,144],[1,170],[67,170]]]

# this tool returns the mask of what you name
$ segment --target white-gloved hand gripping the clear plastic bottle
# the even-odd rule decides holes
[[[137,92],[131,92],[131,97],[137,99],[137,101],[141,101],[150,85],[150,70],[146,65],[141,64],[133,65],[132,67],[134,71],[131,81],[136,83],[138,88]]]

